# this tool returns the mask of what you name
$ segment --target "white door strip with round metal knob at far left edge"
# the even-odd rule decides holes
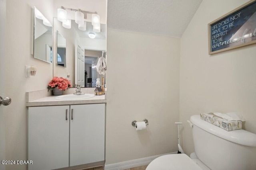
[[[5,88],[5,27],[6,27],[6,0],[0,0],[0,96],[6,97]],[[6,106],[0,106],[0,161],[5,160],[5,113]],[[5,165],[0,163],[0,170],[5,170]]]

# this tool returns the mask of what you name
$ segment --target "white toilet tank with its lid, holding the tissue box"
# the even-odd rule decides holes
[[[200,118],[190,117],[196,156],[211,170],[256,170],[256,134],[226,131]]]

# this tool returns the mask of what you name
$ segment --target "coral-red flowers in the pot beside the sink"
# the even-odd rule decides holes
[[[58,88],[59,90],[66,90],[71,87],[71,83],[68,79],[62,77],[53,77],[48,84],[48,91]]]

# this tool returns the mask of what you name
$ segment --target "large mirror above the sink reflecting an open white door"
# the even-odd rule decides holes
[[[73,87],[80,84],[81,87],[95,88],[96,78],[102,80],[102,75],[96,71],[96,64],[102,57],[102,51],[106,58],[106,24],[100,24],[100,33],[93,31],[92,23],[89,21],[86,21],[86,31],[78,29],[78,24],[74,20],[71,21],[70,29],[62,27],[62,22],[57,18],[54,18],[53,25],[54,31],[57,32],[58,54],[60,54],[59,49],[61,48],[59,37],[63,35],[63,39],[66,39],[66,68],[60,70],[60,67],[54,66],[54,76],[67,78],[66,75],[70,75],[68,79]],[[94,33],[94,39],[89,37],[89,33]],[[59,65],[58,56],[57,63]],[[104,82],[106,82],[106,76]]]

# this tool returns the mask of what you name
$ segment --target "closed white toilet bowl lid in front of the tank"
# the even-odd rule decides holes
[[[154,159],[146,170],[203,170],[186,154],[166,154]]]

